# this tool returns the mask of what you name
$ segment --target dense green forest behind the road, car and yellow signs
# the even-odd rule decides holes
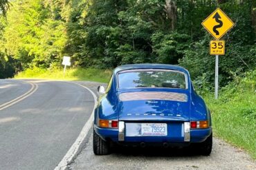
[[[60,67],[67,55],[73,67],[182,65],[199,86],[210,87],[213,38],[201,22],[217,7],[235,23],[223,36],[223,86],[255,70],[256,0],[0,0],[0,78]]]

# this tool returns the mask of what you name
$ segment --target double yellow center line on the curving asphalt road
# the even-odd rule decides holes
[[[25,94],[22,94],[21,96],[10,100],[7,103],[3,103],[2,105],[0,105],[0,111],[3,109],[6,109],[7,107],[10,107],[12,105],[15,105],[16,103],[20,102],[21,100],[24,100],[25,98],[27,98],[28,96],[32,95],[33,93],[35,93],[35,91],[37,91],[38,89],[38,85],[34,84],[34,83],[30,83],[30,85],[32,86],[30,88],[30,90],[28,90],[28,92],[26,92]]]

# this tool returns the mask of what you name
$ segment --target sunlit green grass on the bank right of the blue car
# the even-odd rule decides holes
[[[241,147],[256,159],[256,70],[223,87],[218,100],[203,96],[212,113],[214,135]]]

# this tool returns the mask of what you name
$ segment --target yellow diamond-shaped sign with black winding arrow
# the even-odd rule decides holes
[[[203,21],[202,25],[215,39],[219,40],[235,24],[221,9],[217,8]]]

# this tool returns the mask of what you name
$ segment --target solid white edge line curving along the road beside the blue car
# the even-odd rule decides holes
[[[71,83],[71,82],[68,82],[68,83]],[[74,84],[80,85],[78,83],[74,83]],[[94,98],[93,111],[91,113],[91,116],[90,116],[89,120],[87,120],[87,122],[85,123],[84,127],[82,128],[82,131],[80,132],[79,136],[77,137],[77,139],[75,140],[75,142],[73,143],[71,148],[68,150],[66,155],[62,158],[60,163],[57,165],[57,167],[55,167],[55,170],[64,170],[64,169],[66,169],[68,167],[68,164],[73,160],[73,158],[77,154],[77,151],[80,148],[80,145],[84,141],[84,138],[86,138],[89,130],[91,129],[91,126],[93,125],[93,117],[94,117],[93,112],[94,112],[95,106],[97,104],[97,97],[94,94],[94,92],[91,91],[91,89],[89,89],[88,87],[85,87],[84,85],[80,85],[80,86],[82,86],[85,89],[87,89],[93,95],[93,98]]]

